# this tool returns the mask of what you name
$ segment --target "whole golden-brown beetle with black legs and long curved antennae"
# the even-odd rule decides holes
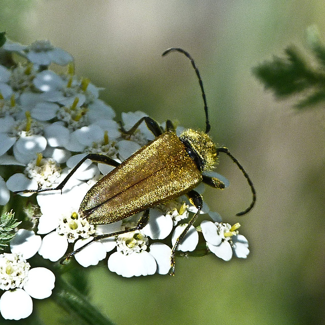
[[[128,131],[124,129],[122,131],[126,136],[131,137],[139,125],[144,122],[155,136],[155,139],[122,163],[118,163],[103,154],[89,153],[79,161],[57,187],[24,191],[43,192],[47,190],[62,190],[63,186],[82,163],[86,159],[90,159],[95,162],[111,165],[115,168],[96,182],[86,193],[79,208],[79,214],[83,218],[86,218],[91,224],[108,224],[125,219],[138,212],[144,212],[135,227],[110,234],[93,235],[90,242],[64,256],[62,259],[63,262],[61,261],[62,263],[68,261],[70,257],[94,241],[143,229],[149,221],[150,208],[175,199],[182,194],[186,194],[198,211],[188,221],[186,228],[172,248],[170,274],[174,275],[175,252],[177,247],[184,239],[190,226],[197,219],[203,207],[202,196],[194,188],[201,182],[215,188],[222,189],[225,187],[224,183],[219,179],[202,174],[204,171],[210,171],[215,167],[220,152],[228,155],[239,167],[252,191],[253,199],[251,204],[246,210],[237,213],[237,215],[246,214],[253,208],[256,201],[256,193],[248,174],[239,161],[229,152],[228,148],[217,148],[208,135],[211,126],[206,95],[199,70],[193,58],[182,48],[175,47],[167,49],[163,53],[163,56],[172,51],[180,52],[189,58],[197,74],[204,101],[206,117],[205,132],[189,128],[182,132],[180,136],[177,136],[174,125],[170,120],[166,121],[166,129],[164,130],[155,120],[145,116],[139,119]]]

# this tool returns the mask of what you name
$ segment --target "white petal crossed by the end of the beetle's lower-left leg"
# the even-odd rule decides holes
[[[78,249],[82,245],[86,244],[92,240],[92,237],[87,239],[79,239],[76,241],[74,245],[74,250]],[[82,249],[79,253],[75,254],[76,261],[87,268],[90,265],[97,265],[99,261],[102,261],[106,257],[106,249],[105,246],[97,241],[89,244],[84,249]]]

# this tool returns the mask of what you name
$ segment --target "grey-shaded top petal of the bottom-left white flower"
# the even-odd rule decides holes
[[[36,235],[33,231],[19,229],[10,241],[10,249],[12,253],[21,254],[22,258],[28,259],[37,253],[41,243],[41,236]]]

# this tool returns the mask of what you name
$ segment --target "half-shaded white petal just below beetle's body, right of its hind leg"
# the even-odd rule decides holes
[[[143,228],[143,233],[152,239],[164,239],[173,229],[173,219],[162,214],[158,209],[150,209],[149,223]]]

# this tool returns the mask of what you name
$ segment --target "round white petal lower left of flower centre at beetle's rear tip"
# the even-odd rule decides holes
[[[67,249],[67,238],[57,232],[52,232],[43,238],[39,254],[52,262],[56,262],[66,253]]]

